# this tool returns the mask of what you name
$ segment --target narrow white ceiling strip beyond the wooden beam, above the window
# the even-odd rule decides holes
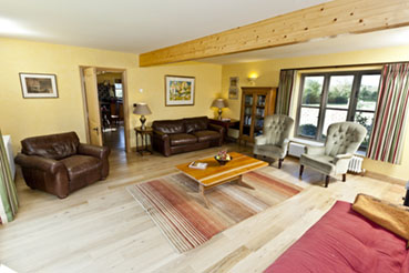
[[[207,58],[201,61],[228,64],[398,46],[409,46],[409,27],[365,34],[345,34],[336,38],[317,39],[305,43]]]

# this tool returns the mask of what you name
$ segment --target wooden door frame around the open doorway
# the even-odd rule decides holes
[[[89,131],[89,122],[88,122],[88,107],[86,107],[86,95],[85,95],[85,84],[84,84],[84,69],[85,68],[94,68],[96,71],[105,71],[113,73],[122,74],[122,90],[123,90],[123,120],[124,120],[124,135],[125,135],[125,152],[131,152],[131,143],[130,143],[130,111],[129,111],[129,98],[127,98],[127,71],[126,69],[121,68],[104,68],[104,67],[93,67],[93,65],[80,65],[80,78],[81,78],[81,90],[82,90],[82,102],[84,109],[84,121],[85,121],[85,133],[86,133],[86,142],[90,143],[90,131]],[[101,122],[101,121],[100,121]],[[102,128],[102,127],[101,127]]]

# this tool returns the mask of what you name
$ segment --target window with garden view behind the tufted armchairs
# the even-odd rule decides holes
[[[331,123],[356,121],[368,130],[359,149],[366,151],[379,81],[380,71],[301,74],[297,136],[324,141]]]

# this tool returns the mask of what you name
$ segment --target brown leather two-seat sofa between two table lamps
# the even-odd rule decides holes
[[[159,120],[152,123],[153,149],[165,156],[223,144],[224,128],[207,117]]]

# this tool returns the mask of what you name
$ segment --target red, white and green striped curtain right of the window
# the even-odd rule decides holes
[[[379,87],[368,158],[401,163],[408,115],[409,63],[386,64]]]

